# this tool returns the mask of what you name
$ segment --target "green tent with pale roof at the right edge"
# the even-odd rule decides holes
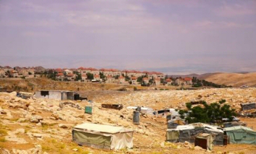
[[[229,136],[233,144],[256,144],[256,132],[249,127],[236,126],[224,128],[223,131]]]

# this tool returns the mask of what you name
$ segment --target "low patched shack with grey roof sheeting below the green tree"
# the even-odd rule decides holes
[[[195,137],[201,133],[213,134],[213,144],[223,146],[223,130],[220,127],[215,127],[204,123],[179,125],[176,129],[167,129],[166,140],[169,142],[176,142],[177,140],[179,140],[179,142],[186,141],[193,144]]]

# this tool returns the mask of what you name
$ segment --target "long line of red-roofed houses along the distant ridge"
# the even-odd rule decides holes
[[[43,67],[0,67],[0,78],[18,78],[18,77],[26,77],[32,78],[35,73],[39,74],[47,71]],[[79,67],[78,69],[53,69],[56,72],[56,80],[70,80],[74,81],[77,77],[75,72],[81,74],[81,81],[88,82],[87,74],[93,74],[93,79],[95,81],[102,81],[100,78],[100,73],[104,74],[107,83],[125,83],[131,82],[131,84],[139,84],[137,82],[137,78],[140,76],[146,76],[142,81],[144,84],[149,84],[150,80],[152,80],[151,84],[160,85],[161,80],[165,78],[165,75],[161,72],[148,72],[148,71],[138,71],[138,70],[117,70],[117,69],[95,69],[95,68],[85,68]],[[125,80],[125,77],[128,77],[130,80]],[[176,80],[171,80],[171,78],[167,78],[164,82],[167,85],[192,85],[192,78],[177,78]]]

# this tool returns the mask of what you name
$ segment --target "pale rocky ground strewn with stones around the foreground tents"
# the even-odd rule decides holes
[[[133,125],[133,110],[127,106],[154,109],[184,108],[185,102],[205,100],[208,103],[226,99],[237,111],[240,103],[255,102],[256,89],[202,89],[191,91],[79,91],[88,100],[20,99],[16,92],[0,93],[1,153],[256,153],[256,146],[229,144],[205,151],[189,143],[165,142],[167,129],[164,117],[140,116],[140,125]],[[102,108],[102,103],[123,104],[121,110]],[[84,114],[84,107],[93,106],[93,114]],[[256,129],[255,119],[242,118]],[[84,122],[122,126],[133,129],[133,149],[102,151],[77,146],[72,142],[72,127]]]

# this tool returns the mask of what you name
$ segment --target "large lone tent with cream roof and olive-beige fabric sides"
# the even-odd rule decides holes
[[[110,125],[83,123],[72,129],[72,140],[98,149],[133,147],[133,130]]]

